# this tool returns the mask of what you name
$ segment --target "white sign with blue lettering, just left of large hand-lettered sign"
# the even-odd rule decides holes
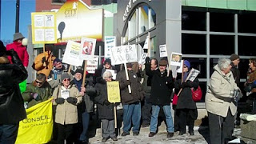
[[[116,46],[116,38],[113,36],[105,37],[105,58],[111,58],[111,48]]]

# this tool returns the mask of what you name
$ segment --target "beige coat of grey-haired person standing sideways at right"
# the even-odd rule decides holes
[[[224,75],[218,66],[214,66],[214,73],[211,75],[206,93],[206,110],[226,117],[230,108],[231,114],[234,115],[237,111],[237,106],[234,104],[234,90],[238,89],[231,71]],[[226,102],[223,99],[230,99],[233,102]]]

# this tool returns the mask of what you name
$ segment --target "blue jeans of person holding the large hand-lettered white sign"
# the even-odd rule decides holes
[[[133,132],[139,131],[141,124],[141,102],[123,105],[123,127],[122,130],[126,133],[130,132],[131,124],[133,124]]]

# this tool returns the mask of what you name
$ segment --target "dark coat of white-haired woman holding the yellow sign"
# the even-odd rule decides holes
[[[106,81],[101,79],[99,83],[96,83],[95,88],[97,90],[97,96],[94,101],[97,103],[98,118],[100,119],[114,119],[114,104],[106,105],[104,101],[107,101]]]

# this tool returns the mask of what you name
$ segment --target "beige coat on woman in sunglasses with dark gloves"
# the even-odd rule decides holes
[[[58,86],[54,89],[54,99],[62,98],[61,90],[70,90],[70,97],[74,97],[78,99],[78,103],[82,102],[82,95],[79,93],[78,89],[75,86],[70,86],[66,89],[64,86]],[[54,101],[54,105],[57,103]],[[78,109],[77,106],[74,106],[67,102],[63,104],[58,104],[56,108],[55,122],[66,125],[66,124],[74,124],[78,122]]]

